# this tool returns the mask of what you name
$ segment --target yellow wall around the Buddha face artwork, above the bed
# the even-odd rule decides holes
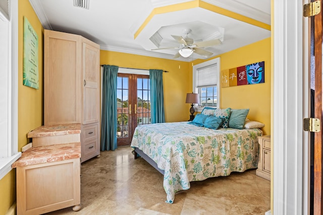
[[[264,61],[264,83],[221,88],[221,108],[249,108],[248,118],[265,124],[264,135],[271,134],[271,38],[221,54],[221,70]],[[209,59],[208,59],[209,60]],[[194,64],[205,60],[195,60]],[[192,65],[189,65],[192,67]],[[192,68],[190,68],[192,69]]]

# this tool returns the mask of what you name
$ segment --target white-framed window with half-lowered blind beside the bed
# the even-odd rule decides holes
[[[201,112],[204,106],[220,107],[220,57],[193,66],[193,92],[199,95]]]

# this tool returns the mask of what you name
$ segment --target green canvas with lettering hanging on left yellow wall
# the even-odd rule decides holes
[[[38,36],[26,17],[24,17],[23,84],[39,89]]]

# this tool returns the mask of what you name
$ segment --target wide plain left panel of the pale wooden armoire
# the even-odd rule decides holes
[[[81,45],[74,34],[44,30],[44,124],[81,121]]]

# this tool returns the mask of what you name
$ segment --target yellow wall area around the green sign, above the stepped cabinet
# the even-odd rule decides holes
[[[19,1],[18,25],[18,149],[28,142],[27,133],[43,124],[43,38],[44,29],[28,0]],[[24,16],[38,35],[39,90],[26,87],[23,80],[23,23]]]

